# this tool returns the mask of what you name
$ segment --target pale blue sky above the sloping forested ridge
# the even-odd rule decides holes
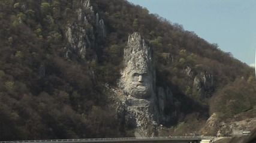
[[[256,0],[127,0],[255,65]]]

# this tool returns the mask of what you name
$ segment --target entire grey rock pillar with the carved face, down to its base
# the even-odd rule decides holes
[[[129,35],[124,49],[125,67],[118,82],[125,95],[122,98],[125,119],[128,125],[137,129],[136,133],[140,136],[158,135],[156,128],[159,123],[170,120],[164,110],[173,103],[173,95],[168,88],[156,87],[152,52],[140,33]]]

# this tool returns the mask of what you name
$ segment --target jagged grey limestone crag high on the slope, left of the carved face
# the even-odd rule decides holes
[[[90,0],[82,0],[80,3],[80,7],[76,10],[77,20],[67,25],[65,36],[68,46],[64,49],[64,57],[70,58],[70,55],[74,54],[85,60],[86,49],[97,44],[96,39],[99,36],[106,36],[106,26],[100,15],[95,13]],[[96,23],[95,28],[92,23]],[[95,38],[96,32],[97,38]]]

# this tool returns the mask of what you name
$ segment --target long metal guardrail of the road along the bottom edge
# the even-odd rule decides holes
[[[156,136],[139,138],[91,138],[91,139],[45,139],[28,141],[0,141],[0,143],[29,143],[29,142],[122,142],[122,141],[162,141],[162,140],[188,140],[188,139],[213,139],[215,136]]]

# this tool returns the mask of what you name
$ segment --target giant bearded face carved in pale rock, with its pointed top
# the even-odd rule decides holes
[[[137,32],[129,35],[124,49],[124,64],[119,86],[134,98],[150,98],[155,83],[152,50]]]

